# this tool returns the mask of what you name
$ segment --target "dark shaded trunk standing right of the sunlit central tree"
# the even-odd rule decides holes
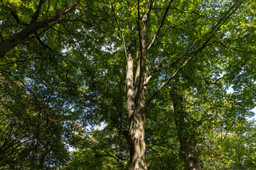
[[[190,130],[187,128],[186,111],[183,109],[183,97],[178,94],[178,89],[174,90],[174,117],[178,140],[180,142],[181,157],[187,170],[198,170],[198,155],[196,154],[195,144],[191,142]]]

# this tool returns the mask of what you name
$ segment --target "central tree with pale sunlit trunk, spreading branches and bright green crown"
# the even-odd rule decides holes
[[[248,4],[250,1],[173,0],[111,4],[127,61],[126,98],[131,170],[147,169],[144,141],[146,107],[193,58],[194,64],[200,60],[203,62],[202,58],[207,60],[201,53],[218,48],[216,43],[222,44],[221,41],[230,34],[230,30],[224,28],[230,26],[232,21],[240,21],[239,12],[242,6]],[[164,53],[169,55],[160,56]],[[199,55],[201,59],[197,58]],[[152,63],[157,60],[161,65]],[[168,74],[161,74],[158,79],[166,81],[146,97],[146,88],[151,79],[167,69],[173,72],[171,76],[167,78]]]

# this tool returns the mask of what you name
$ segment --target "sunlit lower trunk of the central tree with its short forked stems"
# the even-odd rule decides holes
[[[133,90],[133,59],[132,59],[132,42],[129,43],[127,52],[127,110],[129,115],[129,143],[130,143],[130,169],[146,170],[146,145],[144,142],[144,91],[142,83],[139,84],[140,77],[140,60],[137,56],[137,73],[135,81],[135,95]]]

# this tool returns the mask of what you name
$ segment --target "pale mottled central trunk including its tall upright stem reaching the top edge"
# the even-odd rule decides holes
[[[149,5],[149,1],[146,1]],[[139,5],[138,5],[139,11]],[[142,15],[142,26],[138,23],[139,28],[139,55],[137,55],[137,70],[135,74],[135,86],[134,86],[134,103],[133,105],[127,103],[128,113],[129,113],[129,136],[130,136],[130,147],[131,147],[131,164],[130,170],[146,170],[146,144],[144,141],[144,126],[145,126],[145,91],[146,86],[144,86],[144,81],[147,78],[147,72],[145,72],[146,65],[146,22],[148,13],[145,11]],[[139,13],[138,13],[139,18]],[[127,60],[127,73],[129,72],[131,60],[128,52]],[[129,74],[131,74],[129,72]],[[131,76],[127,77],[127,87],[129,87],[129,79]],[[130,88],[130,87],[129,87]],[[127,88],[127,94],[130,94],[131,89]],[[133,89],[132,89],[133,90]],[[130,101],[129,95],[127,96],[127,101]],[[132,106],[132,107],[130,107]]]

